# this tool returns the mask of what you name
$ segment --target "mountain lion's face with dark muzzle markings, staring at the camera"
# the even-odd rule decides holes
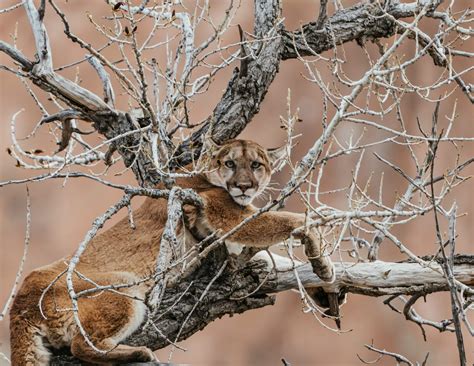
[[[272,163],[284,149],[266,150],[255,142],[233,140],[217,147],[209,172],[210,183],[225,188],[235,202],[249,205],[270,182]]]

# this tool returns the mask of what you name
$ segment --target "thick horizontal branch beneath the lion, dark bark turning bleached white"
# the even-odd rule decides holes
[[[148,325],[142,326],[124,343],[160,349],[170,345],[170,342],[175,343],[190,337],[224,315],[232,316],[272,305],[275,301],[272,294],[299,288],[292,262],[277,255],[274,255],[274,259],[276,272],[272,270],[273,261],[266,252],[260,252],[255,260],[239,268],[238,260],[229,258],[225,250],[214,251],[196,272],[166,290],[166,296],[159,311],[155,313],[155,318],[150,319]],[[218,271],[219,264],[224,260],[229,260],[230,265],[213,283],[204,300],[197,303]],[[432,264],[439,272],[413,262],[335,263],[336,281],[331,285],[321,281],[309,264],[299,263],[296,272],[305,287],[324,287],[328,292],[344,291],[366,296],[385,296],[426,295],[449,291],[446,278],[442,275],[441,264]],[[454,276],[466,285],[474,285],[474,257],[456,256]],[[255,292],[257,287],[259,290]],[[180,331],[191,310],[192,315]],[[166,335],[166,339],[163,335]],[[55,360],[62,360],[57,364],[64,364],[64,359],[64,356],[55,356]]]

